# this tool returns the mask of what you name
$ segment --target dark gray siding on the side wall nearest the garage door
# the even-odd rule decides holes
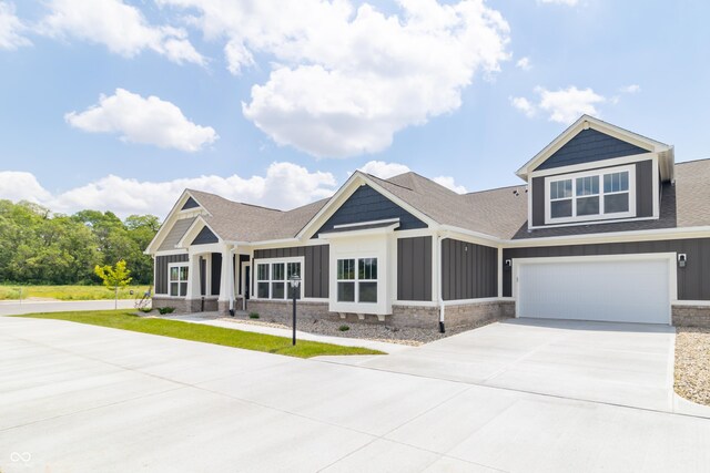
[[[442,240],[444,300],[498,296],[498,250],[446,238]]]

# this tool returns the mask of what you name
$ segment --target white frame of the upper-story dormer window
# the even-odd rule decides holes
[[[605,194],[604,192],[604,176],[606,174],[616,174],[616,173],[629,173],[629,189],[622,192],[613,192]],[[599,179],[599,194],[592,195],[577,195],[577,179],[580,177],[591,177],[597,176]],[[565,198],[551,199],[550,198],[550,184],[559,181],[571,179],[572,182],[572,215],[571,217],[558,217],[552,218],[551,216],[551,203],[556,200],[564,200]],[[629,195],[629,210],[628,212],[616,212],[612,214],[605,214],[605,195],[619,195],[626,194]],[[599,214],[597,215],[580,215],[577,216],[577,199],[585,197],[594,197],[599,196]],[[626,166],[615,166],[615,167],[605,167],[598,169],[584,171],[579,173],[572,174],[559,174],[555,176],[545,177],[545,224],[565,224],[565,223],[574,223],[574,222],[594,222],[594,220],[609,220],[609,219],[619,219],[619,218],[629,218],[636,216],[636,164],[626,165]]]

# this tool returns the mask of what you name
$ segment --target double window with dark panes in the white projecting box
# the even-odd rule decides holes
[[[337,301],[377,302],[377,258],[337,260]]]

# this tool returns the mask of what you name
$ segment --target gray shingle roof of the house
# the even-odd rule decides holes
[[[412,172],[388,179],[367,176],[439,224],[504,239],[710,225],[710,160],[676,164],[676,185],[663,184],[660,218],[657,220],[531,232],[527,230],[526,185],[457,194]],[[328,202],[326,198],[283,212],[227,200],[200,191],[190,193],[212,214],[204,217],[207,224],[223,239],[232,241],[293,238]]]

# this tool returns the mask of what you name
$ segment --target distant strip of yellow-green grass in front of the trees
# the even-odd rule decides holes
[[[99,300],[113,299],[113,291],[103,286],[0,286],[0,300],[42,297],[59,300]],[[119,299],[141,297],[149,286],[129,286],[119,290]],[[131,290],[133,295],[131,295]]]

